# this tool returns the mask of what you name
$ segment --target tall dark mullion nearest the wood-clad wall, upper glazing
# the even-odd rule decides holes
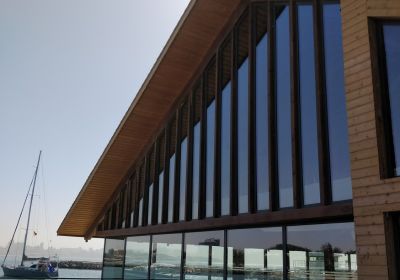
[[[317,83],[317,126],[318,126],[318,158],[320,177],[320,201],[323,205],[331,203],[331,180],[329,161],[329,139],[327,104],[325,90],[325,69],[323,51],[322,7],[320,0],[313,0],[314,14],[314,44],[315,44],[315,73]]]

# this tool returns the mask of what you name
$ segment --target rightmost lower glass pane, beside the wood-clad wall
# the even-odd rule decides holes
[[[287,228],[291,279],[353,279],[356,247],[353,223]]]

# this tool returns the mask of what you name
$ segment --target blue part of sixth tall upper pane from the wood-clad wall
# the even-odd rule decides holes
[[[230,213],[231,193],[231,83],[222,91],[221,102],[221,214]]]

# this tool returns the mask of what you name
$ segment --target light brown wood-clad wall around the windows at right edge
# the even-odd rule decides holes
[[[375,54],[369,38],[376,34],[368,32],[368,17],[400,17],[400,5],[397,0],[341,0],[341,13],[358,275],[389,279],[383,213],[400,210],[400,179],[380,178],[371,64]],[[371,109],[363,110],[365,106]]]

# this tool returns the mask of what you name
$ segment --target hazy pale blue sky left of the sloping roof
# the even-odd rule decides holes
[[[0,1],[0,246],[11,238],[39,150],[32,245],[103,246],[57,237],[57,228],[187,4]]]

